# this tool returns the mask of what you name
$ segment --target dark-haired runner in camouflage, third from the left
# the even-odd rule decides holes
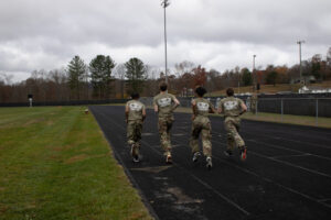
[[[195,94],[197,96],[196,99],[192,100],[192,132],[191,132],[191,141],[190,145],[193,153],[193,162],[197,162],[200,154],[199,151],[199,135],[201,133],[202,138],[202,146],[203,154],[206,156],[206,167],[209,169],[212,168],[212,128],[211,121],[209,119],[209,113],[214,113],[214,106],[207,100],[203,98],[206,90],[203,87],[197,87],[195,89]]]

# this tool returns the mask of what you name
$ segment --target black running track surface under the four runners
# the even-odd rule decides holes
[[[135,164],[126,144],[124,107],[90,107],[147,206],[159,219],[330,219],[331,130],[243,121],[248,146],[245,163],[223,151],[226,136],[221,117],[211,118],[213,169],[202,156],[192,162],[191,116],[175,113],[173,164],[166,165],[157,116],[143,124],[142,162]]]

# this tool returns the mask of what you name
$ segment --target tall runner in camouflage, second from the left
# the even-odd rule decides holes
[[[166,82],[160,84],[160,94],[153,98],[153,107],[159,114],[160,143],[164,151],[166,162],[172,163],[170,130],[173,123],[173,110],[180,102],[173,95],[167,92],[167,88]]]

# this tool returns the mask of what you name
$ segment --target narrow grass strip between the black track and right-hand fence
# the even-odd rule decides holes
[[[177,112],[192,113],[190,108],[178,108]],[[211,114],[216,117],[222,117],[222,114]],[[254,120],[254,121],[267,121],[276,123],[288,123],[288,124],[298,124],[298,125],[312,125],[319,128],[331,129],[331,118],[319,117],[318,121],[316,117],[306,117],[306,116],[292,116],[292,114],[277,114],[277,113],[265,113],[258,112],[257,114],[247,112],[242,116],[243,119]],[[318,122],[318,123],[317,123]]]

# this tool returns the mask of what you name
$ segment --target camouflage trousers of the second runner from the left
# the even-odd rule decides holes
[[[170,130],[172,123],[173,123],[172,117],[159,118],[160,143],[166,155],[170,154],[171,151]]]

